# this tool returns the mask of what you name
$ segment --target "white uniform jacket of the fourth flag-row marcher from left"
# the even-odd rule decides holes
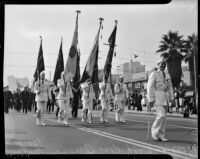
[[[99,99],[100,100],[106,100],[110,101],[113,98],[112,89],[110,83],[100,83],[99,84],[100,94]]]

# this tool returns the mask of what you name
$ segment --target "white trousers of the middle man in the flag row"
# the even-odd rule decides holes
[[[88,121],[92,119],[93,100],[83,100],[82,118],[86,118],[86,110],[88,109]]]

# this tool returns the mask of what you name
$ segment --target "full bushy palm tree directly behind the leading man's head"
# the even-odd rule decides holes
[[[183,60],[182,53],[185,51],[185,40],[179,35],[178,31],[162,36],[159,50],[156,53],[161,53],[161,56],[166,59],[167,69],[171,76],[173,87],[179,87],[182,76],[181,62]]]

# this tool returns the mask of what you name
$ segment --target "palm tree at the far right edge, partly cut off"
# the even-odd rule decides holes
[[[197,49],[197,45],[198,45],[198,36],[195,34],[192,34],[190,36],[188,36],[187,40],[186,40],[186,44],[185,44],[185,56],[184,56],[184,61],[186,63],[188,63],[189,66],[189,70],[190,70],[190,77],[191,77],[191,85],[194,88],[195,86],[195,75],[194,75],[194,56],[196,56],[196,68],[198,68],[197,66],[197,56],[198,56],[198,52],[196,51],[196,55],[194,55],[195,52],[195,48]]]

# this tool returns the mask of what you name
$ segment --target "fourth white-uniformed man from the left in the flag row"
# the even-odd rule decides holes
[[[108,83],[105,78],[103,78],[103,82],[100,83],[100,95],[99,99],[101,100],[102,111],[100,114],[101,122],[108,122],[108,111],[111,99],[113,99],[112,89],[110,83]]]

